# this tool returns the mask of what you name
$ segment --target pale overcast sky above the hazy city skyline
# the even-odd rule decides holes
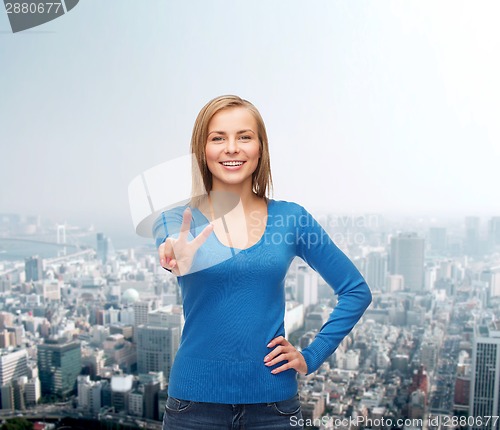
[[[277,199],[500,215],[495,0],[82,0],[16,34],[2,10],[0,212],[132,229],[129,182],[238,94]]]

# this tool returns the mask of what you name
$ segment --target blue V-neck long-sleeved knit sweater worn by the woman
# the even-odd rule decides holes
[[[186,206],[163,212],[153,226],[156,245],[175,237]],[[190,236],[208,224],[192,209]],[[179,276],[185,325],[170,372],[168,394],[214,403],[275,402],[297,392],[297,371],[278,374],[264,364],[267,344],[285,336],[285,276],[302,258],[333,288],[338,303],[312,343],[302,350],[308,373],[337,349],[371,303],[362,275],[300,205],[269,200],[261,239],[248,249],[224,246],[215,233]]]

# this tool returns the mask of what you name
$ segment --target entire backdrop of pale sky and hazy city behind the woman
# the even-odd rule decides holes
[[[500,415],[499,20],[494,0],[86,0],[12,34],[0,12],[0,419],[161,428],[181,297],[127,188],[228,93],[264,117],[274,197],[374,293],[299,378],[304,417]],[[304,347],[335,297],[300,261],[286,288]]]

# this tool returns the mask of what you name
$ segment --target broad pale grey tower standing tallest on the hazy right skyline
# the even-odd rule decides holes
[[[416,233],[400,233],[391,239],[390,273],[403,275],[405,288],[422,291],[424,287],[425,240]]]

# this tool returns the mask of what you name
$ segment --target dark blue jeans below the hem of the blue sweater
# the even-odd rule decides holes
[[[299,394],[271,403],[229,405],[193,402],[170,396],[163,430],[284,430],[303,429]]]

